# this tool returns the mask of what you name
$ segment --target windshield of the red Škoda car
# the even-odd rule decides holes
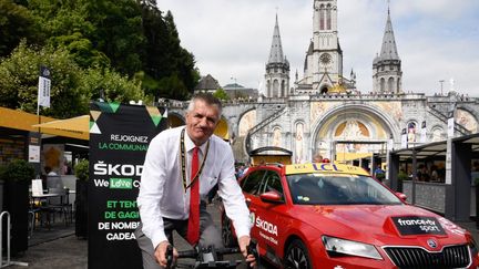
[[[297,205],[399,205],[400,199],[368,176],[339,174],[288,175]]]

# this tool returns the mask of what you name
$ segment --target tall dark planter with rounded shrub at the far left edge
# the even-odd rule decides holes
[[[0,169],[0,178],[4,182],[4,210],[10,213],[11,220],[12,256],[28,248],[29,185],[33,177],[33,166],[23,159],[11,161]]]

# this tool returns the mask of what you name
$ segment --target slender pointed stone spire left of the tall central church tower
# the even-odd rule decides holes
[[[269,59],[266,63],[265,81],[266,97],[286,97],[289,95],[289,62],[283,55],[277,14]]]

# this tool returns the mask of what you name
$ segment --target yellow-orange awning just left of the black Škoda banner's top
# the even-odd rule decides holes
[[[63,135],[88,141],[90,133],[90,115],[34,124],[32,127],[40,128],[40,132],[44,134]]]

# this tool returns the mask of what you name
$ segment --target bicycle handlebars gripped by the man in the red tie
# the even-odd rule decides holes
[[[223,255],[228,254],[241,254],[238,247],[235,248],[215,248],[214,246],[210,247],[195,247],[192,250],[182,250],[177,251],[179,257],[176,263],[173,263],[173,246],[169,246],[166,249],[166,269],[174,268],[188,268],[188,269],[198,269],[198,268],[236,268],[244,260],[223,260]],[[256,265],[259,265],[259,255],[256,249],[256,242],[253,240],[249,242],[247,247],[248,255],[253,255],[256,259]],[[180,259],[195,259],[194,261],[185,261]],[[247,265],[249,268],[249,265]]]

